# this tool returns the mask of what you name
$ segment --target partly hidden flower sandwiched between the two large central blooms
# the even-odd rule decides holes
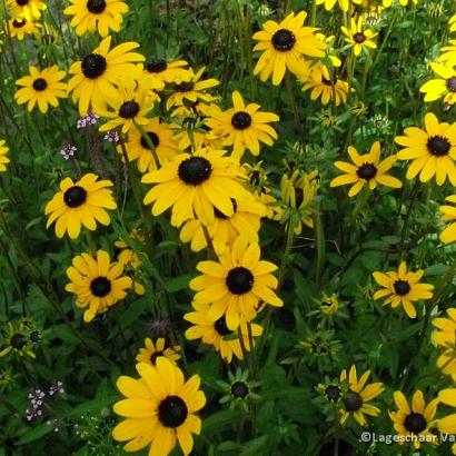
[[[260,219],[266,212],[265,205],[255,198],[231,199],[234,214],[228,217],[214,209],[214,224],[207,227],[207,235],[211,239],[216,254],[224,254],[232,241],[242,235],[249,242],[258,242]],[[180,240],[190,242],[194,251],[200,251],[207,247],[204,226],[198,219],[187,220],[180,229]]]

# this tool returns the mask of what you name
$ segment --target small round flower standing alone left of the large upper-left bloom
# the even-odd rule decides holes
[[[67,73],[60,71],[57,65],[44,68],[42,71],[36,67],[30,67],[29,72],[29,76],[16,81],[16,85],[20,86],[21,89],[14,93],[18,105],[28,103],[27,110],[29,112],[38,105],[38,109],[46,113],[49,105],[57,107],[59,98],[68,97],[67,85],[61,82]]]

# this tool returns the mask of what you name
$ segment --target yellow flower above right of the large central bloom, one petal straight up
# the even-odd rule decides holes
[[[242,157],[246,149],[258,156],[260,142],[272,146],[277,132],[268,122],[277,122],[279,117],[259,111],[259,105],[246,106],[237,90],[232,92],[232,106],[226,111],[214,107],[211,117],[206,120],[214,135],[224,138],[222,146],[234,146],[234,157],[237,159]]]

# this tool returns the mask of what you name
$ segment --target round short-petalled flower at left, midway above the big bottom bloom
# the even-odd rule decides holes
[[[127,296],[127,289],[132,282],[130,277],[122,274],[123,264],[111,262],[105,250],[98,250],[96,257],[81,254],[72,259],[72,266],[67,269],[71,281],[65,289],[77,296],[78,307],[87,307],[83,313],[86,323],[91,321],[97,314],[106,313]]]

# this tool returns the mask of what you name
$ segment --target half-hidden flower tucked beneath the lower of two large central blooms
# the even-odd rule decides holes
[[[247,323],[240,320],[237,331],[228,328],[226,317],[222,315],[219,318],[214,318],[209,314],[210,306],[208,304],[191,304],[194,311],[184,316],[184,319],[190,321],[194,326],[186,330],[188,340],[201,339],[202,344],[211,345],[216,351],[227,361],[231,363],[232,356],[238,359],[244,359],[239,331],[242,337],[242,345],[246,351],[250,351],[250,339]],[[252,337],[258,337],[262,334],[261,326],[250,324],[250,334]]]

